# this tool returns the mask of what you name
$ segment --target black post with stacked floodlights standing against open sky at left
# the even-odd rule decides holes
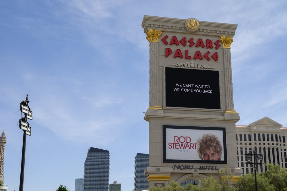
[[[24,166],[25,166],[25,152],[26,152],[26,135],[31,136],[31,127],[27,122],[27,119],[33,120],[32,111],[28,106],[28,94],[26,101],[20,102],[20,111],[24,113],[24,117],[19,120],[19,128],[23,130],[23,146],[22,146],[22,161],[21,161],[21,173],[20,173],[20,186],[19,191],[23,191],[24,188]]]

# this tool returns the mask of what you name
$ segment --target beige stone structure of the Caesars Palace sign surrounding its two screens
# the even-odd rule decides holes
[[[144,118],[149,123],[149,167],[145,170],[149,187],[167,186],[172,181],[181,183],[208,175],[218,177],[220,169],[226,166],[231,168],[236,180],[242,174],[242,169],[238,168],[235,128],[240,117],[233,104],[230,45],[237,25],[198,21],[195,18],[144,16],[142,27],[150,43],[150,107]],[[218,105],[209,108],[205,104],[208,100],[191,99],[191,104],[199,102],[203,107],[177,107],[176,104],[186,98],[168,95],[166,67],[217,71]],[[203,76],[203,79],[206,78],[209,77]],[[170,97],[171,105],[167,103]],[[223,128],[225,161],[165,162],[163,126]]]

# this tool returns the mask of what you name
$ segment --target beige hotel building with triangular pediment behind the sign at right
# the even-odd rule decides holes
[[[253,172],[250,164],[245,164],[245,154],[263,154],[262,163],[280,165],[287,168],[287,128],[268,117],[259,119],[248,126],[236,125],[238,167],[243,173]],[[256,165],[259,172],[265,172],[264,165]]]

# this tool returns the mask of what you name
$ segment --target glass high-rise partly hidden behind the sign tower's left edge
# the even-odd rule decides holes
[[[148,167],[148,154],[135,155],[135,190],[148,190],[148,180],[144,170]]]

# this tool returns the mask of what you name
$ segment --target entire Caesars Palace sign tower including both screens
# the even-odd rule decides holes
[[[237,165],[230,45],[236,24],[144,16],[150,45],[151,186],[200,180]]]

